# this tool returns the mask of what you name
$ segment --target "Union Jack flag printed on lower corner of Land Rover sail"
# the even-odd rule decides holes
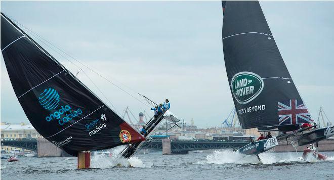
[[[279,125],[313,123],[311,115],[302,100],[278,102]]]

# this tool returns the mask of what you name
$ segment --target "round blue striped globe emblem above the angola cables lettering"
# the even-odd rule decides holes
[[[46,88],[43,93],[40,94],[39,104],[46,110],[56,109],[59,105],[59,94],[54,88]]]

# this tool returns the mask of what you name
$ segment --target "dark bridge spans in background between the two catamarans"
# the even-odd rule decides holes
[[[208,150],[208,149],[236,149],[248,144],[247,142],[213,142],[213,141],[171,141],[171,152],[174,154],[184,154],[188,151]],[[142,149],[162,151],[162,141],[146,142]]]

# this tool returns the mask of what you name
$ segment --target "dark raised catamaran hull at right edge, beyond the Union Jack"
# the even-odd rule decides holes
[[[334,126],[327,126],[320,129],[313,129],[303,133],[301,138],[291,141],[293,147],[316,143],[334,136]]]

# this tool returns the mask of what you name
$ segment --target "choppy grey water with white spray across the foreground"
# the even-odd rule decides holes
[[[254,156],[231,150],[151,153],[117,161],[92,156],[92,168],[85,170],[76,169],[76,157],[2,159],[1,179],[334,179],[334,152],[322,154],[329,159],[312,163],[298,159],[301,153],[271,152],[260,154],[260,163]]]

